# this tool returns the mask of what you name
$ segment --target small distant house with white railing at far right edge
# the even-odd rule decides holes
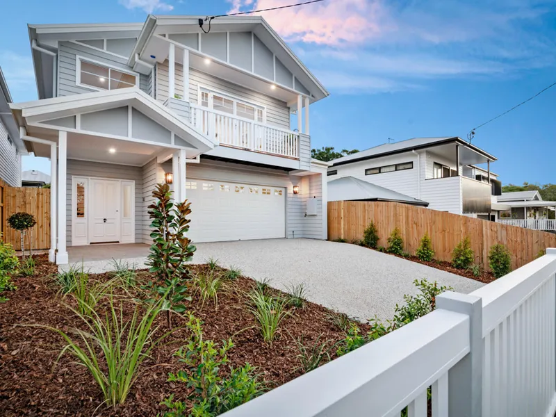
[[[556,231],[556,202],[543,200],[537,190],[498,196],[498,222],[528,229]]]

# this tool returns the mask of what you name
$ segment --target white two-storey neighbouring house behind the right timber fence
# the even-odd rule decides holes
[[[501,183],[490,171],[493,161],[494,156],[461,138],[413,138],[334,159],[327,176],[329,186],[350,179],[337,183],[350,187],[346,199],[368,200],[377,192],[386,199],[390,194],[395,201],[403,195],[414,200],[411,204],[487,220],[491,215],[495,220],[491,204],[501,193]],[[380,188],[369,190],[360,181]],[[334,201],[330,190],[328,195]]]

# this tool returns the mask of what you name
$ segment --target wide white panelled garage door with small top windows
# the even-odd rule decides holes
[[[285,188],[190,179],[186,189],[194,243],[286,235]]]

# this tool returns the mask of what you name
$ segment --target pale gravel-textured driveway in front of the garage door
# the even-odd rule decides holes
[[[461,293],[471,293],[484,285],[396,256],[324,240],[197,244],[194,263],[204,263],[209,256],[218,259],[224,268],[229,265],[241,268],[248,277],[268,278],[271,286],[281,290],[288,284],[303,282],[310,301],[363,320],[375,314],[391,318],[403,295],[416,293],[414,279],[438,281]]]

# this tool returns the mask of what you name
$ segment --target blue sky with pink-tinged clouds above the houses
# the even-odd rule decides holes
[[[26,0],[3,4],[0,66],[15,101],[36,99],[26,24],[144,22],[300,0]],[[556,1],[325,0],[262,13],[330,92],[311,106],[311,145],[367,149],[466,138],[556,82]],[[9,34],[9,35],[8,35]],[[476,131],[502,183],[556,183],[556,86]],[[49,172],[42,158],[25,169]]]

